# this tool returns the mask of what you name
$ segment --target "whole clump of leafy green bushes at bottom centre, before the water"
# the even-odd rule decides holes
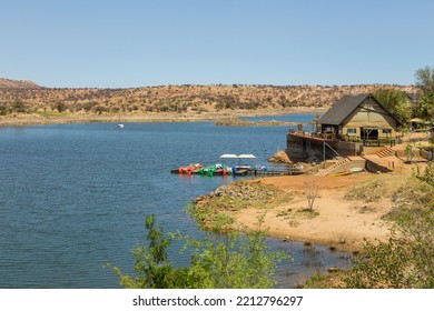
[[[220,229],[229,223],[227,217],[220,217]],[[270,251],[259,231],[247,235],[208,232],[205,239],[197,240],[179,233],[166,235],[155,224],[154,215],[146,218],[148,245],[141,243],[132,252],[137,275],[125,275],[114,268],[126,288],[272,288],[277,262],[288,258]],[[185,241],[183,251],[191,250],[189,267],[174,268],[168,261],[167,249],[174,240]]]

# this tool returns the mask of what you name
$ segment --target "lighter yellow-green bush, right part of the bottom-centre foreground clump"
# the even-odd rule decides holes
[[[277,262],[290,258],[268,248],[265,232],[260,230],[262,222],[259,219],[259,230],[243,234],[231,229],[234,219],[219,213],[204,240],[187,238],[187,245],[194,249],[190,267],[190,273],[196,275],[194,287],[272,288],[275,284],[272,277]]]

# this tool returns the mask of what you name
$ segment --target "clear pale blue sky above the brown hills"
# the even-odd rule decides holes
[[[432,0],[1,0],[0,77],[53,88],[413,84]]]

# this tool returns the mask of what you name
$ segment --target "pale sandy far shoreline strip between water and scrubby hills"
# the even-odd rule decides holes
[[[150,113],[57,113],[43,116],[40,113],[21,114],[13,113],[0,116],[0,127],[31,127],[45,124],[69,123],[147,123],[147,122],[216,122],[229,118],[260,117],[260,116],[286,116],[296,113],[323,113],[325,110],[313,108],[292,108],[290,110],[224,110],[218,112],[150,112]],[[245,124],[249,126],[249,124]]]

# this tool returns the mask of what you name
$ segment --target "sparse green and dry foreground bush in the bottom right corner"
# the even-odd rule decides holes
[[[434,288],[433,167],[417,171],[416,188],[407,183],[407,201],[393,213],[395,228],[385,243],[366,242],[364,254],[344,278],[346,288]],[[411,204],[408,204],[408,199]]]

